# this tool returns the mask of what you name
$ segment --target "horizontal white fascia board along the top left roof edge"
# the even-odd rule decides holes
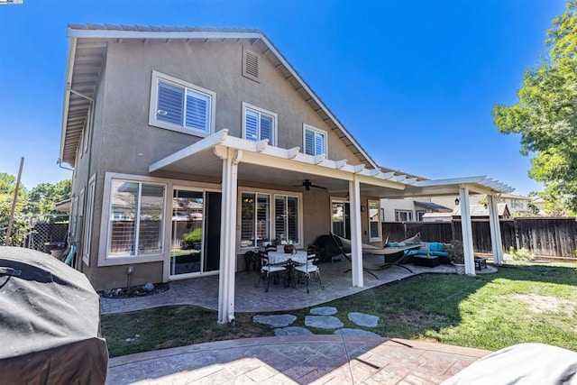
[[[257,32],[79,30],[70,27],[67,36],[85,39],[264,39]]]

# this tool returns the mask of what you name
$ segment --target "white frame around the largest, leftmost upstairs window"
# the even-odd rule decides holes
[[[185,88],[185,91],[187,89],[197,92],[199,94],[202,94],[204,96],[207,96],[210,100],[210,106],[208,108],[208,122],[207,123],[207,130],[206,131],[201,131],[201,130],[197,130],[194,128],[190,128],[184,125],[184,119],[183,119],[183,125],[178,125],[178,124],[170,124],[168,122],[162,122],[156,119],[156,115],[157,115],[157,111],[158,111],[158,97],[159,97],[159,83],[160,81],[163,81],[165,83],[169,83],[172,86],[175,87],[182,87]],[[204,87],[199,87],[197,85],[194,85],[192,83],[188,83],[188,81],[185,80],[181,80],[179,78],[174,78],[171,77],[169,75],[163,74],[161,72],[152,71],[152,83],[151,83],[151,105],[150,105],[150,110],[149,110],[149,117],[148,117],[148,124],[155,126],[155,127],[160,127],[160,128],[164,128],[167,130],[172,130],[172,131],[176,131],[178,133],[188,133],[190,135],[195,135],[195,136],[200,136],[200,137],[206,137],[208,135],[210,135],[211,133],[215,132],[215,106],[216,106],[216,93],[214,91],[211,91],[209,89],[206,89]]]

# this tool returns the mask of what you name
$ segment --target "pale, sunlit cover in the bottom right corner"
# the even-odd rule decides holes
[[[577,384],[577,353],[548,344],[517,344],[473,362],[443,385]]]

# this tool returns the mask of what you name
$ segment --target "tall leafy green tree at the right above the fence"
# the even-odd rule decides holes
[[[493,108],[499,133],[521,135],[521,153],[533,156],[529,177],[545,184],[555,211],[577,209],[577,0],[566,7],[546,32],[548,57],[526,70],[517,105]]]

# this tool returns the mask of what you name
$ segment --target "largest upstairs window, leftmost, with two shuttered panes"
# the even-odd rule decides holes
[[[215,93],[152,71],[149,124],[206,136],[213,131]]]

